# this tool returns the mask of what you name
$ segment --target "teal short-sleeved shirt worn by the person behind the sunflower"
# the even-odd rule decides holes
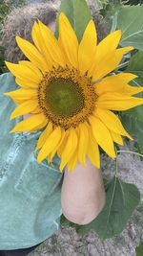
[[[0,249],[39,244],[59,227],[60,158],[38,164],[34,148],[41,131],[10,133],[22,117],[10,121],[15,104],[3,93],[19,86],[8,73],[0,76]]]

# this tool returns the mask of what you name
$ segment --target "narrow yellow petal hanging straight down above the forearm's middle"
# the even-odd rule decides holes
[[[78,159],[80,163],[86,167],[86,153],[89,145],[89,130],[83,123],[78,126]]]

